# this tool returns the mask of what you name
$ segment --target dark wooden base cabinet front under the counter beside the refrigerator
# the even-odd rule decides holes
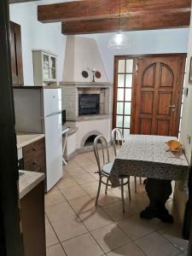
[[[24,170],[45,172],[44,138],[23,147]]]

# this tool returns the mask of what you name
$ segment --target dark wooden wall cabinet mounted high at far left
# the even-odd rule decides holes
[[[20,25],[10,21],[11,69],[14,85],[23,85],[23,63]]]

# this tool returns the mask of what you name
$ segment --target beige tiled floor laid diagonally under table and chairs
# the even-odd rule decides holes
[[[45,195],[48,256],[187,254],[188,243],[181,238],[172,199],[166,205],[175,224],[139,218],[138,213],[148,206],[148,196],[138,178],[137,194],[131,178],[131,201],[125,188],[125,213],[119,188],[109,187],[105,195],[102,185],[95,207],[98,174],[93,152],[76,155],[63,170],[61,181]]]

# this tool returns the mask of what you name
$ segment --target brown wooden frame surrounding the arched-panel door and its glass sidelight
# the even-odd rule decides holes
[[[130,127],[130,132],[134,133],[133,131],[133,126],[135,123],[135,114],[136,114],[136,96],[137,96],[137,86],[134,86],[134,84],[137,82],[137,76],[134,75],[137,71],[136,71],[136,61],[137,58],[145,58],[145,57],[167,57],[167,56],[183,56],[185,58],[187,58],[187,54],[186,53],[170,53],[170,54],[146,54],[146,55],[114,55],[114,63],[113,63],[113,120],[112,120],[112,125],[113,128],[116,128],[116,112],[117,112],[117,84],[118,84],[118,61],[122,60],[122,59],[133,59],[134,61],[134,65],[133,65],[133,80],[132,80],[132,102],[131,102],[131,127]],[[182,66],[181,68],[184,68],[184,66]],[[184,74],[185,74],[185,70],[183,72],[183,80],[184,80]],[[180,99],[179,101],[182,101],[182,94],[180,95]],[[179,126],[179,120],[180,120],[180,116],[177,117],[177,126]]]

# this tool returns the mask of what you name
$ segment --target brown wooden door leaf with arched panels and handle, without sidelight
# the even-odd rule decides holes
[[[177,136],[185,55],[137,58],[133,133]]]

